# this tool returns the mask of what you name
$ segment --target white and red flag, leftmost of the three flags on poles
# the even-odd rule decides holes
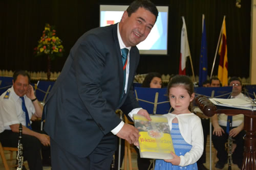
[[[184,16],[182,16],[183,26],[181,30],[181,41],[180,41],[180,66],[179,75],[186,75],[186,59],[190,56],[190,50],[187,40],[187,29]]]

